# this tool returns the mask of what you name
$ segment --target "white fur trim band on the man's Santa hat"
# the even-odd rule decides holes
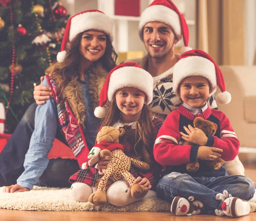
[[[139,35],[143,40],[143,28],[149,22],[162,22],[170,26],[178,40],[181,40],[181,28],[179,15],[163,5],[154,5],[146,8],[140,16]]]

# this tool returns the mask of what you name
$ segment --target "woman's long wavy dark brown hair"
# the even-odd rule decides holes
[[[80,77],[79,58],[81,55],[79,53],[79,47],[81,37],[84,32],[77,34],[76,37],[74,37],[74,39],[70,42],[70,48],[67,51],[67,55],[63,62],[54,62],[46,69],[46,72],[50,73],[53,79],[55,75],[59,75],[63,78],[63,81],[57,87],[57,92],[61,99],[61,105],[64,102],[64,88],[71,81],[71,79],[73,79],[74,77]],[[116,66],[117,54],[113,48],[113,45],[111,44],[111,40],[108,34],[106,34],[106,41],[106,51],[97,62],[101,63],[103,68],[105,68],[109,72],[112,68]]]

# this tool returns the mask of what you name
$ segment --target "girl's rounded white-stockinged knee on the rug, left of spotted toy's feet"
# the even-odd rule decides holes
[[[93,189],[95,187],[76,181],[70,187],[70,196],[73,200],[87,202],[89,196],[95,192]]]

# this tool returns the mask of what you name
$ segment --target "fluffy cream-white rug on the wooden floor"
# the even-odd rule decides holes
[[[34,187],[29,192],[3,193],[0,187],[0,208],[36,211],[170,211],[171,204],[159,198],[151,198],[125,207],[95,206],[89,202],[70,199],[69,188]],[[256,211],[256,194],[250,200],[251,212]]]

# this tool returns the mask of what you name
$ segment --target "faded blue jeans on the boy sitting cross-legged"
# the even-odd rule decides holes
[[[253,198],[255,187],[253,181],[246,176],[192,177],[188,174],[172,172],[164,176],[157,184],[157,196],[172,202],[175,196],[189,198],[204,203],[203,211],[212,213],[218,209],[221,201],[217,201],[217,193],[227,190],[233,197],[244,200]]]

